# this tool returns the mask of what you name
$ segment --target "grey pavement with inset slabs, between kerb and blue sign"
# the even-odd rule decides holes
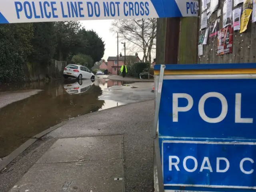
[[[68,120],[0,171],[0,191],[153,192],[153,116],[149,100]]]

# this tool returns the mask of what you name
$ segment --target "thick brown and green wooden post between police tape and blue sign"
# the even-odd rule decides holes
[[[156,64],[197,63],[198,18],[158,18]]]

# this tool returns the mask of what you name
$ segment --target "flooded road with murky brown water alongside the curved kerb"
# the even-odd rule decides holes
[[[0,87],[0,158],[69,118],[153,99],[153,83],[58,80]]]

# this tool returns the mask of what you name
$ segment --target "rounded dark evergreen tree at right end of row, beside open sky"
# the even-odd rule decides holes
[[[90,55],[95,62],[100,61],[105,52],[105,44],[102,38],[93,30],[82,28],[79,32],[80,48],[79,52]]]

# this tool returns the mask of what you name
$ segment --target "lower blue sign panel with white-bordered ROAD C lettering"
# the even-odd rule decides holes
[[[162,150],[165,186],[256,189],[256,143],[164,141]]]

